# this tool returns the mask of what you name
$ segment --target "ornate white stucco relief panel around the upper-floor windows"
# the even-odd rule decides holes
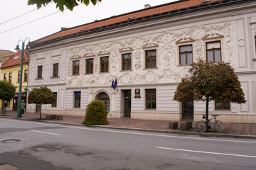
[[[193,43],[193,60],[205,60],[205,40],[220,39],[223,42],[223,60],[236,65],[233,60],[238,57],[235,49],[234,38],[235,23],[216,23],[206,26],[196,26],[179,30],[169,30],[151,35],[139,35],[124,40],[87,45],[68,50],[68,86],[110,86],[113,78],[117,78],[119,85],[126,84],[159,84],[175,83],[187,74],[188,66],[178,66],[178,45]],[[157,49],[157,69],[144,69],[144,50]],[[122,72],[122,52],[132,51],[132,71]],[[94,74],[80,74],[71,76],[72,66],[70,61],[79,57],[94,56]],[[110,72],[100,74],[100,57],[110,57]],[[82,66],[82,65],[83,66]],[[80,70],[85,69],[85,62],[80,63]],[[81,71],[82,72],[82,71]],[[76,80],[75,80],[76,79]],[[78,81],[78,83],[76,83]]]

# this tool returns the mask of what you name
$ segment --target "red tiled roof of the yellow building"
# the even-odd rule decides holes
[[[26,54],[26,52],[24,52],[24,59],[23,63],[29,62],[28,60],[28,55]],[[15,66],[21,64],[21,51],[16,52],[14,55],[12,55],[9,60],[7,60],[1,67],[0,69],[6,68],[6,67],[11,67],[11,66]]]

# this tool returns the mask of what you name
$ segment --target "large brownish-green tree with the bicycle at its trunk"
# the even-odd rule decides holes
[[[203,62],[191,64],[174,94],[175,101],[206,101],[206,120],[210,101],[245,103],[240,81],[229,63]]]

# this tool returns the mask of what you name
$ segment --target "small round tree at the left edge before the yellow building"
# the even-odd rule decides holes
[[[11,84],[11,82],[0,81],[0,99],[2,100],[1,111],[4,111],[4,101],[10,101],[11,98],[14,98],[16,91],[16,86]]]

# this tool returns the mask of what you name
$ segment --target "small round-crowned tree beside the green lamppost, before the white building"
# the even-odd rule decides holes
[[[34,88],[28,94],[28,103],[40,104],[40,119],[42,118],[42,104],[53,104],[56,102],[56,96],[53,91],[46,86],[41,88]]]

